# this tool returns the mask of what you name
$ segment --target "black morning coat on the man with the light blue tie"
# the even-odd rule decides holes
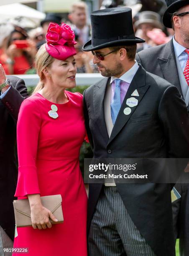
[[[189,116],[175,86],[140,66],[109,138],[104,115],[109,82],[110,78],[104,78],[84,92],[85,124],[94,158],[189,158]],[[138,105],[125,115],[126,100],[136,89]],[[175,256],[173,184],[116,185],[130,217],[154,253]],[[102,184],[89,184],[88,232],[101,189]]]

